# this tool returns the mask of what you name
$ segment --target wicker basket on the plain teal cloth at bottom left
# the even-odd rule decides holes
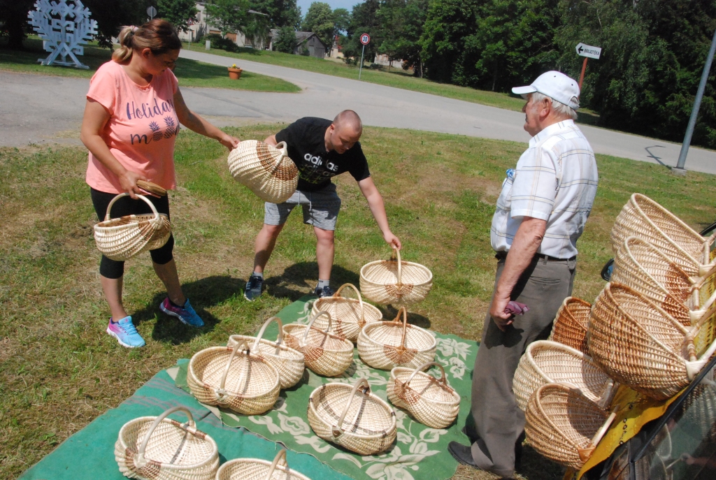
[[[187,423],[167,418],[179,410],[186,413]],[[115,460],[122,475],[142,480],[213,480],[219,468],[216,441],[196,429],[183,406],[125,423],[115,443]]]

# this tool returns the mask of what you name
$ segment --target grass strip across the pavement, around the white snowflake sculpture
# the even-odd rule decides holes
[[[44,75],[57,75],[60,77],[91,78],[97,68],[105,62],[109,62],[112,52],[109,49],[102,49],[96,44],[84,46],[84,55],[79,61],[89,69],[77,69],[74,67],[47,67],[39,64],[37,59],[44,59],[48,52],[42,49],[42,40],[25,39],[24,52],[9,50],[4,42],[0,44],[0,70],[10,72],[35,73]],[[241,79],[231,80],[225,67],[205,64],[190,59],[178,59],[174,74],[179,79],[181,87],[211,87],[238,90],[253,90],[256,92],[300,92],[301,88],[286,80],[266,75],[243,72]]]

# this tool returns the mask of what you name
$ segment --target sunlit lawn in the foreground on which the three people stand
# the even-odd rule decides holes
[[[263,138],[276,125],[228,129]],[[400,129],[366,128],[371,170],[384,195],[405,260],[432,269],[434,287],[409,318],[442,333],[480,338],[495,260],[490,219],[505,176],[524,144]],[[92,238],[97,222],[84,184],[87,153],[79,147],[0,149],[0,478],[14,478],[57,444],[129,397],[157,371],[232,333],[252,333],[264,319],[314,288],[311,228],[300,213],[276,245],[266,293],[243,299],[253,239],[263,205],[231,179],[226,149],[184,130],[171,195],[175,257],[185,293],[206,322],[195,330],[158,310],[165,293],[148,255],[127,262],[125,305],[147,340],[117,345],[104,330],[109,316]],[[579,241],[574,295],[593,300],[611,257],[609,231],[632,192],[643,192],[700,230],[716,217],[714,177],[674,177],[646,162],[598,155],[600,184]],[[387,258],[367,204],[348,175],[337,179],[339,217],[334,287],[358,284],[364,263]],[[385,316],[395,315],[384,310]],[[523,478],[561,479],[560,467],[526,451]],[[467,468],[455,479],[491,479]]]

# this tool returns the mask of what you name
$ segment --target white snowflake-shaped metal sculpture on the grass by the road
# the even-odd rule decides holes
[[[46,59],[37,59],[43,65],[64,65],[88,69],[77,59],[84,54],[82,44],[97,34],[97,21],[90,20],[91,12],[80,0],[37,0],[35,9],[27,14],[34,31],[43,40]],[[62,60],[57,57],[62,56]],[[72,61],[67,60],[69,57]]]

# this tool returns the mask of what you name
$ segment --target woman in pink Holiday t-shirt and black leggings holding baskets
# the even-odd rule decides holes
[[[180,123],[230,150],[239,142],[186,107],[172,72],[181,42],[168,21],[126,26],[119,40],[120,49],[112,54],[112,62],[103,64],[89,81],[80,134],[89,150],[87,184],[101,220],[112,198],[122,192],[130,196],[115,202],[112,217],[150,212],[137,198],[137,193],[143,193],[137,180],[167,190],[176,187],[174,142]],[[152,202],[160,213],[169,215],[168,197],[153,198]],[[159,308],[183,323],[201,327],[203,321],[182,292],[173,247],[174,238],[170,237],[162,248],[150,250],[154,270],[168,294]],[[112,311],[107,333],[122,346],[144,346],[122,305],[123,275],[124,262],[102,255],[102,290]]]

